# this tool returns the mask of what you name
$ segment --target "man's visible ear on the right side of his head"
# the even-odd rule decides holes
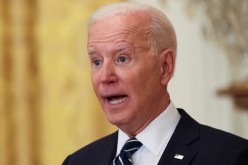
[[[172,49],[165,49],[159,56],[161,65],[161,84],[167,85],[174,72],[175,52]]]

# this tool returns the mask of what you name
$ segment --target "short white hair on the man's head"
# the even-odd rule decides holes
[[[176,54],[177,41],[172,24],[164,13],[148,5],[119,2],[103,6],[91,15],[89,26],[103,19],[111,19],[111,17],[114,16],[127,16],[136,13],[145,14],[149,17],[149,42],[152,53],[158,54],[166,48],[172,48]]]

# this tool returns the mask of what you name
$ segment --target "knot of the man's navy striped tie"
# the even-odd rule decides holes
[[[142,143],[138,141],[136,138],[131,138],[127,140],[122,147],[122,151],[129,153],[130,155],[134,154],[140,147]]]

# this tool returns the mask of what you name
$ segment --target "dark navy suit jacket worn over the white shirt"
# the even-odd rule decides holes
[[[201,125],[184,110],[158,165],[248,165],[248,141]],[[115,158],[115,132],[69,155],[63,165],[111,165]],[[176,154],[184,155],[182,160]]]

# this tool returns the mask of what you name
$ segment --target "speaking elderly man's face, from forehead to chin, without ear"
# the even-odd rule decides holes
[[[113,17],[94,23],[88,52],[92,84],[108,118],[124,131],[138,132],[161,108],[159,56],[152,56],[144,18]]]

